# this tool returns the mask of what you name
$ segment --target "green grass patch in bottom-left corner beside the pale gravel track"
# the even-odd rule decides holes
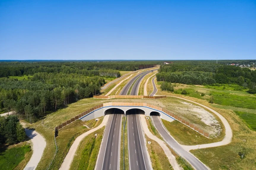
[[[24,169],[33,152],[27,142],[10,145],[6,150],[3,147],[0,151],[0,170]]]

